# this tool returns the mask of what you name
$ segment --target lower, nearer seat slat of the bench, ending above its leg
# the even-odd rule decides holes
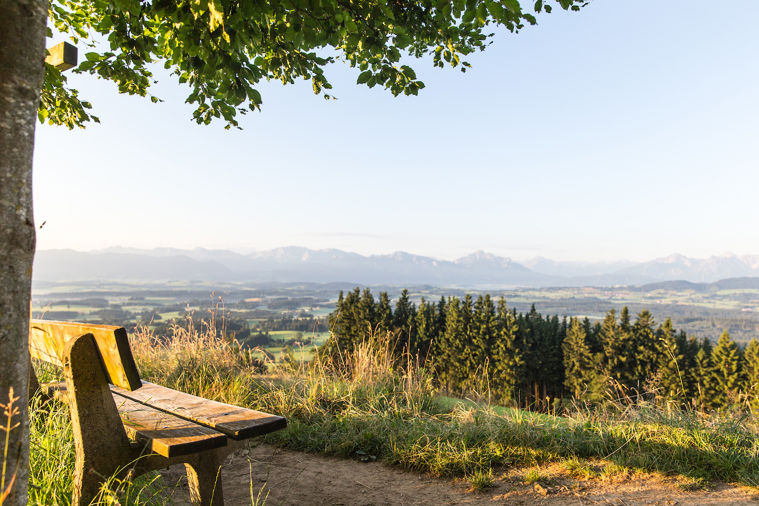
[[[45,386],[51,397],[55,396],[68,402],[65,383]],[[156,454],[180,457],[227,445],[227,437],[222,432],[189,422],[171,413],[154,410],[150,406],[115,393],[113,400],[128,437],[132,441],[144,444]]]

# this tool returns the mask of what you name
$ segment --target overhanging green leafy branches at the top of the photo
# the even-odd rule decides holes
[[[587,5],[555,1],[565,10]],[[534,11],[543,9],[550,12],[551,6],[537,0]],[[493,36],[485,27],[515,32],[536,24],[518,0],[52,0],[49,15],[74,43],[95,49],[95,38],[108,41],[109,51],[87,52],[74,72],[145,96],[155,82],[149,65],[162,62],[180,83],[190,84],[194,119],[207,125],[223,118],[226,128],[238,126],[238,112],[260,109],[255,85],[261,79],[307,79],[314,93],[329,99],[324,68],[345,60],[361,71],[358,84],[416,95],[424,83],[411,67],[398,65],[402,54],[430,53],[433,65],[465,71],[470,65],[461,57],[483,50]],[[335,57],[315,52],[328,46],[337,50]],[[46,67],[40,122],[74,128],[99,121],[85,110],[90,104],[65,87],[65,76]]]

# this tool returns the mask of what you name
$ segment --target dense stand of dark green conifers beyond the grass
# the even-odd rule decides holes
[[[392,304],[386,292],[340,293],[329,316],[333,339],[322,353],[351,350],[371,335],[395,341],[398,363],[427,364],[443,392],[487,391],[494,402],[551,410],[575,400],[635,402],[655,395],[680,406],[718,410],[759,383],[759,341],[745,349],[724,331],[716,345],[688,337],[669,318],[647,310],[632,317],[610,308],[603,321],[526,314],[489,295],[422,298],[408,291]],[[388,334],[390,333],[390,334]]]

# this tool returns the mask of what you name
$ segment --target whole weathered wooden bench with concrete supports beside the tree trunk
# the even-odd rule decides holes
[[[71,408],[77,450],[73,506],[87,506],[104,479],[134,479],[176,463],[187,467],[191,501],[222,506],[220,470],[245,440],[287,426],[247,410],[140,380],[123,327],[31,320],[33,358],[64,370],[43,385]],[[30,391],[39,383],[31,368]]]

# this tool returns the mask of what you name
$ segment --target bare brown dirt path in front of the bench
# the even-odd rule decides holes
[[[759,504],[759,491],[729,483],[686,490],[682,479],[655,474],[581,479],[552,464],[540,467],[540,473],[549,478],[535,487],[520,481],[522,473],[524,470],[501,470],[493,487],[480,492],[471,491],[469,483],[461,479],[440,479],[378,462],[322,457],[259,444],[250,452],[242,450],[231,456],[222,470],[222,480],[228,506],[256,504],[251,501],[251,479],[253,499],[262,491],[260,499],[266,498],[269,506]],[[172,493],[176,504],[189,504],[184,466],[173,466],[163,476],[167,485],[178,484]]]

